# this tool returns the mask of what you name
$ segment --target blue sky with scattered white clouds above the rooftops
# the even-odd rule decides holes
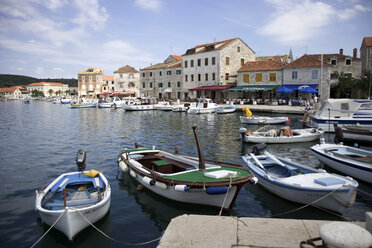
[[[352,55],[372,37],[371,0],[0,0],[0,74],[77,78],[139,70],[239,37],[256,56]]]

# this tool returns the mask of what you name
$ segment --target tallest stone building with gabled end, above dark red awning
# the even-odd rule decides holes
[[[226,90],[236,85],[237,71],[254,60],[254,51],[240,38],[197,45],[182,55],[184,88],[191,98],[226,98]]]

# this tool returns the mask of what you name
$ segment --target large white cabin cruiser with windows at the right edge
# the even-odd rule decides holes
[[[328,99],[313,115],[309,125],[334,132],[333,124],[372,127],[372,101],[355,99]]]

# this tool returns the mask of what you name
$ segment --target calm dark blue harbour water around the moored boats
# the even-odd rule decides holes
[[[301,127],[302,116],[289,116],[291,127]],[[35,190],[46,187],[58,175],[75,171],[78,149],[87,150],[87,169],[103,171],[112,187],[111,209],[96,225],[126,243],[141,243],[161,236],[172,218],[182,214],[217,215],[219,210],[176,203],[147,190],[137,191],[135,182],[118,171],[119,152],[145,146],[197,156],[191,127],[196,124],[206,159],[242,164],[240,156],[252,145],[241,147],[239,113],[188,115],[173,112],[125,112],[122,109],[70,109],[49,102],[0,102],[0,244],[30,247],[48,229],[35,212]],[[252,130],[258,126],[245,126]],[[332,137],[331,137],[332,138]],[[270,145],[274,154],[321,167],[309,147],[316,142]],[[371,147],[368,147],[371,149]],[[328,169],[331,171],[331,169]],[[360,183],[372,194],[372,186]],[[270,217],[301,205],[283,200],[262,187],[245,185],[231,216]],[[356,203],[342,217],[308,207],[277,218],[363,221],[372,211],[372,198],[358,192]],[[186,227],[185,227],[186,228]],[[141,247],[156,247],[158,242]],[[93,228],[80,233],[73,243],[59,231],[50,231],[36,247],[123,247]],[[132,246],[127,246],[132,247]],[[138,246],[137,246],[138,247]]]

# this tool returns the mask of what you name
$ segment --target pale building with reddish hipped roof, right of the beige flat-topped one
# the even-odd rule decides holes
[[[114,72],[114,88],[111,87],[112,91],[132,91],[134,95],[139,97],[139,82],[140,82],[140,73],[129,65],[120,67],[117,71]]]

